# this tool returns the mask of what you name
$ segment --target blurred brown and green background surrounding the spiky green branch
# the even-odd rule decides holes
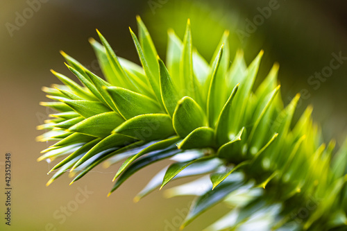
[[[279,62],[285,103],[297,92],[303,96],[297,117],[312,104],[325,140],[334,137],[339,145],[347,135],[346,1],[1,0],[0,9],[0,185],[4,190],[5,153],[10,152],[13,187],[12,225],[5,226],[1,217],[0,230],[178,230],[192,198],[164,199],[162,191],[155,191],[133,203],[168,162],[143,169],[110,198],[106,195],[118,166],[96,168],[71,186],[62,176],[45,187],[53,164],[36,162],[49,146],[35,142],[42,133],[35,127],[51,113],[39,105],[46,101],[41,87],[58,83],[49,69],[71,76],[58,51],[101,74],[87,42],[98,28],[117,55],[139,63],[128,32],[128,26],[136,29],[135,15],[144,20],[162,58],[167,28],[182,38],[187,18],[193,43],[208,61],[225,29],[232,54],[244,49],[248,64],[264,49],[257,84]],[[1,193],[1,214],[4,203]],[[202,230],[226,211],[214,207],[186,230]]]

